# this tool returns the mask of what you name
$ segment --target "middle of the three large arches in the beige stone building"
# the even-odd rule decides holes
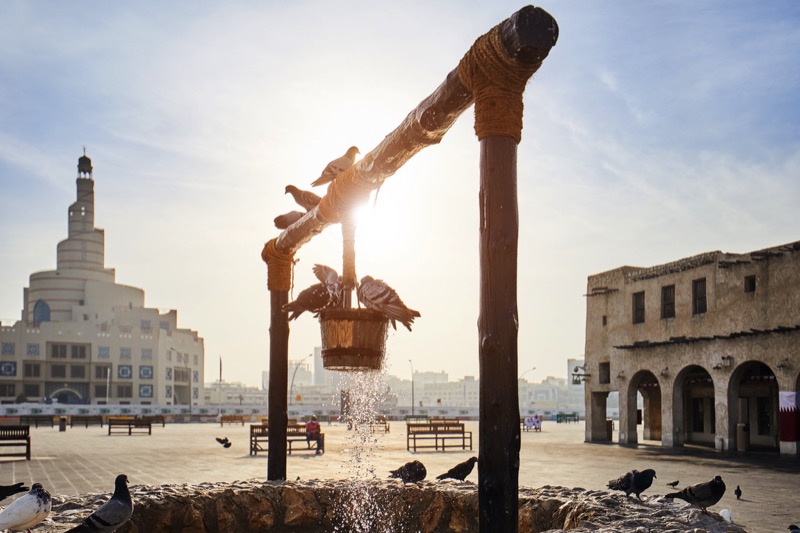
[[[708,370],[699,365],[681,370],[675,379],[673,398],[675,445],[714,446],[717,431],[714,380]]]

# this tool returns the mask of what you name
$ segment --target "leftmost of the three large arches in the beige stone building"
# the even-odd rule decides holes
[[[643,440],[661,440],[661,386],[649,370],[640,370],[631,378],[627,389],[625,442],[639,441],[638,425],[642,424]],[[639,401],[641,398],[641,402]],[[641,405],[641,408],[639,407]],[[622,424],[622,417],[620,417]]]

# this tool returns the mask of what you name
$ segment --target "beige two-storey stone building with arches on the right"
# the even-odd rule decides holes
[[[775,450],[800,431],[800,242],[588,279],[586,441]],[[637,397],[643,409],[636,408]]]

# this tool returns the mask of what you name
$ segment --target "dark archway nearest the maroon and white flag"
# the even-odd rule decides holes
[[[768,365],[747,361],[733,371],[728,414],[738,450],[778,450],[778,380]]]

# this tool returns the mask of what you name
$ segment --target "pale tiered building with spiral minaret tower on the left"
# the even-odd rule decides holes
[[[0,326],[0,401],[202,404],[203,339],[178,327],[177,311],[145,307],[144,290],[115,282],[85,153],[76,183],[56,269],[31,274],[21,319]]]

